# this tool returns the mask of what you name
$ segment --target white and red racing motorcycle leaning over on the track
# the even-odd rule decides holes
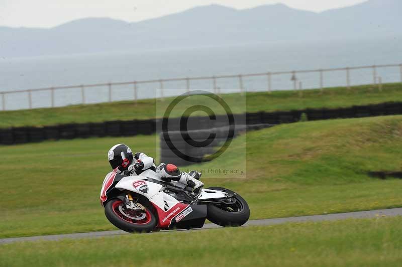
[[[202,228],[206,219],[241,226],[250,217],[247,202],[229,189],[210,187],[195,194],[178,182],[162,181],[152,170],[141,176],[110,173],[100,202],[108,220],[127,232]]]

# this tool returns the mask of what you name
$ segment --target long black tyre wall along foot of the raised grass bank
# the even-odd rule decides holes
[[[308,108],[292,111],[255,112],[234,114],[233,116],[237,125],[260,123],[278,124],[296,122],[300,119],[302,113],[306,113],[309,120],[396,115],[402,114],[402,102],[387,102],[331,109]],[[180,123],[183,123],[183,119],[170,118],[169,131],[179,131]],[[161,125],[162,119],[147,119],[70,123],[45,127],[15,127],[0,129],[0,145],[88,137],[152,135],[153,133],[162,131]],[[182,126],[188,130],[200,130],[227,125],[228,116],[217,115],[216,119],[210,119],[209,117],[189,117],[187,124]]]

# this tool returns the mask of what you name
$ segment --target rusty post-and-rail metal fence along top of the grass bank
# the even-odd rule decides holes
[[[108,102],[112,102],[113,100],[113,86],[119,85],[129,85],[133,88],[133,98],[134,100],[138,100],[138,85],[140,84],[155,84],[159,89],[159,95],[157,97],[164,97],[164,90],[167,89],[165,83],[167,82],[185,82],[185,89],[187,92],[191,90],[191,81],[201,81],[201,80],[210,80],[209,83],[211,88],[213,88],[214,93],[221,93],[221,87],[217,86],[219,79],[237,79],[238,80],[238,90],[240,93],[244,93],[246,88],[244,86],[245,78],[253,78],[253,77],[266,77],[266,88],[259,89],[259,91],[266,90],[268,92],[276,90],[272,85],[272,81],[274,79],[273,76],[278,75],[291,75],[291,81],[293,83],[293,90],[302,89],[303,82],[297,78],[298,74],[306,74],[306,73],[317,73],[317,79],[319,81],[319,88],[323,90],[324,88],[324,79],[325,73],[328,72],[344,72],[344,81],[347,88],[351,87],[351,71],[352,70],[362,70],[362,69],[371,69],[372,70],[372,80],[365,81],[364,84],[378,85],[381,87],[382,77],[378,76],[378,70],[382,68],[399,68],[400,73],[400,82],[402,83],[402,64],[386,64],[386,65],[372,65],[372,66],[359,66],[359,67],[345,67],[345,68],[328,68],[328,69],[311,69],[311,70],[294,70],[294,71],[279,71],[279,72],[261,72],[261,73],[249,73],[249,74],[234,74],[234,75],[220,75],[220,76],[198,76],[198,77],[183,77],[183,78],[170,78],[170,79],[155,79],[155,80],[138,80],[138,81],[128,81],[128,82],[114,82],[114,83],[97,83],[97,84],[81,84],[81,85],[69,85],[69,86],[54,86],[47,88],[36,88],[36,89],[26,89],[26,90],[15,90],[15,91],[3,91],[0,92],[1,102],[2,102],[2,110],[7,109],[7,100],[6,95],[8,94],[25,94],[28,100],[28,108],[33,108],[33,93],[40,91],[47,91],[50,93],[50,107],[55,107],[55,91],[62,89],[79,89],[80,90],[80,103],[87,103],[86,98],[86,89],[94,88],[94,87],[105,87],[108,90]],[[208,86],[208,85],[207,85]]]

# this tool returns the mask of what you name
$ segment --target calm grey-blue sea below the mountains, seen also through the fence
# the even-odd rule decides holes
[[[170,78],[245,75],[310,69],[345,68],[383,64],[402,64],[402,36],[366,40],[328,40],[253,43],[233,46],[181,48],[149,51],[117,51],[38,57],[2,57],[0,51],[0,110],[50,107],[50,90],[11,93],[17,90],[84,85],[54,91],[54,106],[109,101],[108,86],[86,84],[159,80]],[[376,68],[382,83],[402,82],[400,67]],[[294,82],[294,79],[297,82]],[[350,71],[350,84],[373,83],[373,69]],[[377,80],[378,81],[378,80]],[[179,95],[190,90],[245,91],[293,90],[320,87],[320,73],[287,73],[268,76],[138,83],[113,85],[112,101]],[[345,86],[345,71],[324,72],[324,87]],[[2,98],[4,97],[4,99]],[[84,99],[82,98],[84,97]],[[4,105],[3,105],[4,104]]]

